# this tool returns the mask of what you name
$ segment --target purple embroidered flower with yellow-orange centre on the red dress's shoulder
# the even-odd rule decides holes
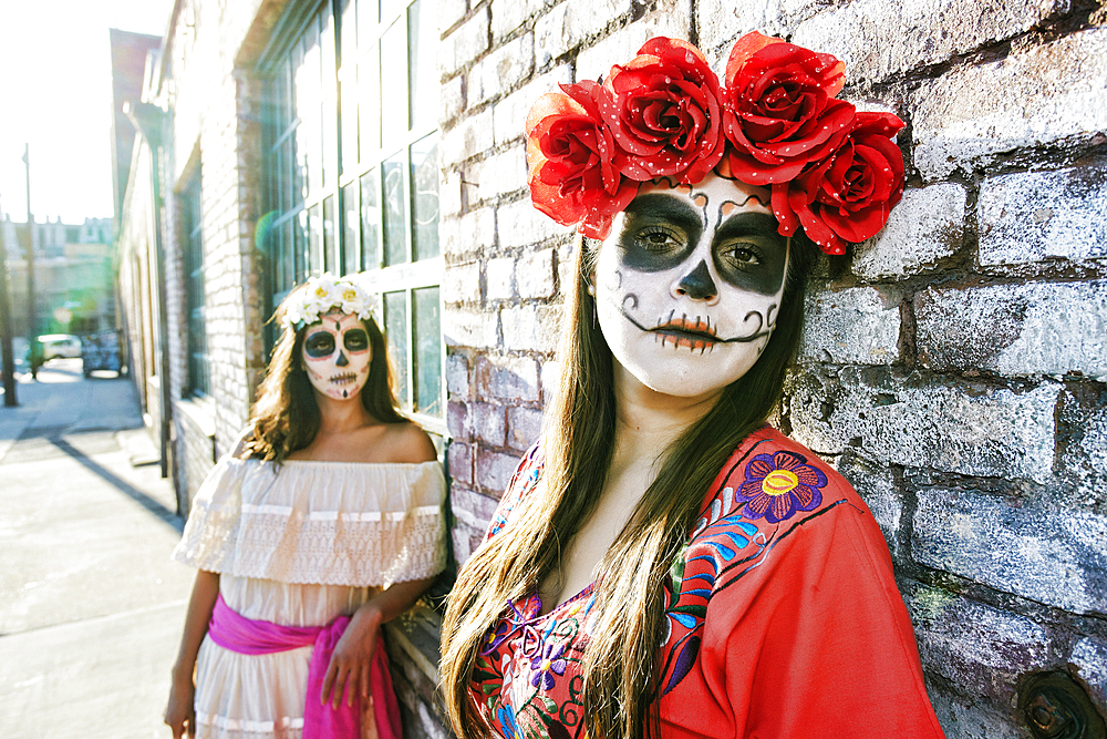
[[[817,509],[823,503],[820,489],[826,484],[823,470],[807,464],[803,454],[758,454],[746,465],[745,482],[735,491],[734,500],[746,504],[745,517],[780,523],[797,511]]]

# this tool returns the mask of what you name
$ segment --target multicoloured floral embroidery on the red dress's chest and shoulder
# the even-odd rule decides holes
[[[795,531],[795,526],[776,524],[800,511],[818,516],[844,502],[823,505],[827,475],[803,454],[778,450],[753,456],[769,441],[755,440],[727,462],[684,551],[673,562],[664,587],[666,634],[659,655],[662,695],[681,685],[700,660],[712,597],[755,571]],[[541,455],[532,450],[505,495],[490,535],[535,487],[541,468]],[[586,588],[545,615],[539,615],[541,599],[536,594],[508,603],[488,634],[474,666],[473,696],[503,736],[587,736],[581,726],[580,661],[591,625],[591,591]]]

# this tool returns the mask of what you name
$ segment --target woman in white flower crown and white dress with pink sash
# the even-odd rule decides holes
[[[165,722],[175,739],[399,739],[381,624],[445,565],[445,480],[354,279],[311,278],[276,318],[249,428],[173,554],[199,572]]]

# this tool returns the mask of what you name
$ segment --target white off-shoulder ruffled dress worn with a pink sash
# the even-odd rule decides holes
[[[224,601],[247,618],[322,626],[374,589],[443,569],[444,497],[437,462],[226,456],[197,492],[173,557],[220,573]],[[242,655],[205,636],[196,736],[299,739],[311,651]]]

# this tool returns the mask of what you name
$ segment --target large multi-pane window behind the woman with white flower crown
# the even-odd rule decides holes
[[[402,407],[445,431],[433,0],[294,4],[267,53],[276,306],[312,275],[364,273]]]

